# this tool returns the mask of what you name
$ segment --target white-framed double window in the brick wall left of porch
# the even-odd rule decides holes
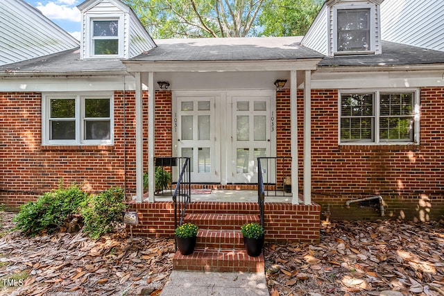
[[[44,144],[111,144],[111,96],[43,97]]]

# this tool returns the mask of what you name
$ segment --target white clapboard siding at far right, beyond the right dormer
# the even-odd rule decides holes
[[[382,40],[444,51],[444,1],[385,0]]]

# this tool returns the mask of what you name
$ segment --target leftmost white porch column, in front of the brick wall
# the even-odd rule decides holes
[[[142,108],[142,73],[135,73],[136,83],[136,202],[144,198],[144,149],[143,149],[143,108]]]

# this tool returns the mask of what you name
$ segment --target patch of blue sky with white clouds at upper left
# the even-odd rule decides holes
[[[1,1],[1,0],[0,0]],[[80,11],[77,6],[84,0],[25,0],[60,28],[80,40]]]

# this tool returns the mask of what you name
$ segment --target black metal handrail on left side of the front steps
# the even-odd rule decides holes
[[[178,225],[182,225],[187,205],[189,204],[189,202],[191,202],[191,166],[189,166],[190,159],[189,157],[184,158],[185,162],[182,165],[182,170],[180,171],[178,182],[176,184],[176,189],[174,189],[173,193],[174,229],[176,229]]]

